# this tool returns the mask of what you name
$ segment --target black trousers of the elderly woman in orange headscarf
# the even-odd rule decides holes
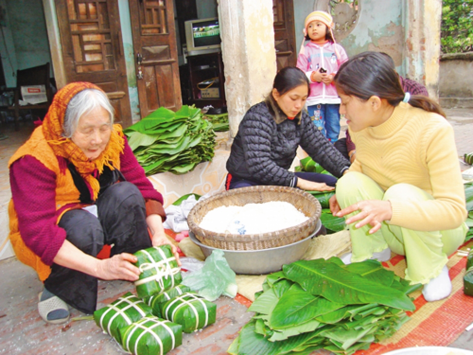
[[[94,257],[104,244],[113,246],[110,256],[151,247],[144,199],[134,184],[111,185],[96,205],[99,218],[84,210],[71,210],[61,217],[59,226],[66,230],[70,243]],[[93,276],[53,264],[44,287],[81,312],[96,310],[98,280]]]

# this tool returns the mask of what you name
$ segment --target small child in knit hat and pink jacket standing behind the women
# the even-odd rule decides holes
[[[310,118],[330,142],[340,133],[340,98],[333,84],[341,64],[348,59],[343,47],[335,42],[332,16],[314,11],[305,18],[304,40],[297,58],[297,67],[310,81],[306,105]],[[304,41],[309,42],[304,46]]]

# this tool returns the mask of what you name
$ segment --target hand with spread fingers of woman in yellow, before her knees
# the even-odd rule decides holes
[[[338,217],[343,217],[356,211],[359,212],[348,218],[345,223],[351,224],[357,222],[355,224],[356,228],[361,228],[368,224],[372,227],[369,231],[370,234],[377,232],[379,228],[381,228],[381,223],[383,221],[391,220],[393,215],[391,202],[381,200],[360,201],[356,204],[348,206],[347,208],[344,208],[343,210],[338,211],[335,213],[335,215]]]

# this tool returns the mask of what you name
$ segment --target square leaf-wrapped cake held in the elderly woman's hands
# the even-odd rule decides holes
[[[160,295],[182,282],[180,268],[169,245],[142,249],[135,252],[135,266],[141,271],[135,281],[141,298]]]

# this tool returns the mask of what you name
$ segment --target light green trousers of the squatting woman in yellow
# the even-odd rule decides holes
[[[336,194],[342,209],[364,200],[434,199],[424,190],[405,183],[393,185],[383,191],[372,178],[357,172],[348,173],[338,180]],[[351,213],[346,218],[357,213]],[[380,230],[369,234],[368,231],[372,228],[370,225],[355,228],[355,224],[349,226],[353,252],[351,260],[357,262],[369,259],[373,252],[389,247],[396,254],[405,255],[405,279],[412,284],[427,284],[439,276],[447,263],[447,256],[465,241],[468,231],[465,223],[446,231],[423,232],[383,222]]]

